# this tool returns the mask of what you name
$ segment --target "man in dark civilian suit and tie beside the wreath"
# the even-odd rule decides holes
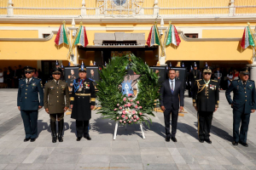
[[[171,69],[168,72],[168,79],[162,83],[160,88],[160,106],[164,111],[165,126],[166,126],[166,142],[177,142],[175,134],[177,132],[177,116],[178,109],[183,111],[184,105],[184,90],[183,82],[175,80],[175,70]],[[180,104],[180,107],[179,107]],[[172,114],[172,135],[170,133],[170,115]]]

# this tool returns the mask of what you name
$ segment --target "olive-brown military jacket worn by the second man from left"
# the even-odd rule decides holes
[[[59,85],[56,84],[55,80],[47,82],[44,86],[44,108],[49,109],[49,114],[55,114],[63,113],[65,106],[69,106],[67,82],[59,80]]]

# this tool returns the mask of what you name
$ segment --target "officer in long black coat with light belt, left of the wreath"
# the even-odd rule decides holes
[[[77,141],[84,135],[85,139],[90,140],[89,121],[91,110],[95,107],[96,95],[93,82],[86,77],[84,65],[79,68],[79,78],[73,81],[73,90],[70,104],[72,108],[71,118],[76,120]]]

